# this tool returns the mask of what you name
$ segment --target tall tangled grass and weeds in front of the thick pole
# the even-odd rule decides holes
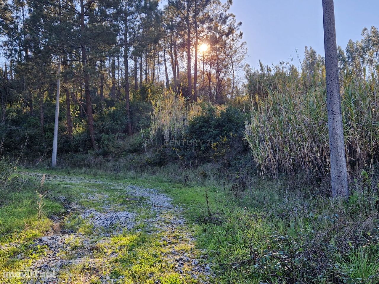
[[[365,175],[346,203],[266,180],[200,241],[218,248],[222,275],[240,280],[226,283],[378,284],[377,189],[368,190],[377,179]]]

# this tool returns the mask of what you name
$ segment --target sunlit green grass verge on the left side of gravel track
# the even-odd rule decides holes
[[[30,245],[38,237],[44,236],[51,229],[53,222],[48,217],[63,213],[61,204],[44,198],[43,211],[38,217],[39,198],[36,190],[43,192],[39,181],[11,177],[13,186],[3,189],[0,207],[0,271],[3,273],[18,273],[33,260],[45,254],[45,246]],[[17,257],[22,255],[23,257]],[[2,281],[0,275],[0,281]],[[20,283],[20,278],[7,279],[9,283]]]

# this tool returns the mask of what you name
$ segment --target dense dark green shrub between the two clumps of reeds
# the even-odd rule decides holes
[[[201,111],[192,117],[183,134],[176,139],[164,140],[170,159],[180,159],[189,164],[222,162],[227,168],[238,155],[246,155],[242,144],[244,115],[232,106],[202,105]]]

